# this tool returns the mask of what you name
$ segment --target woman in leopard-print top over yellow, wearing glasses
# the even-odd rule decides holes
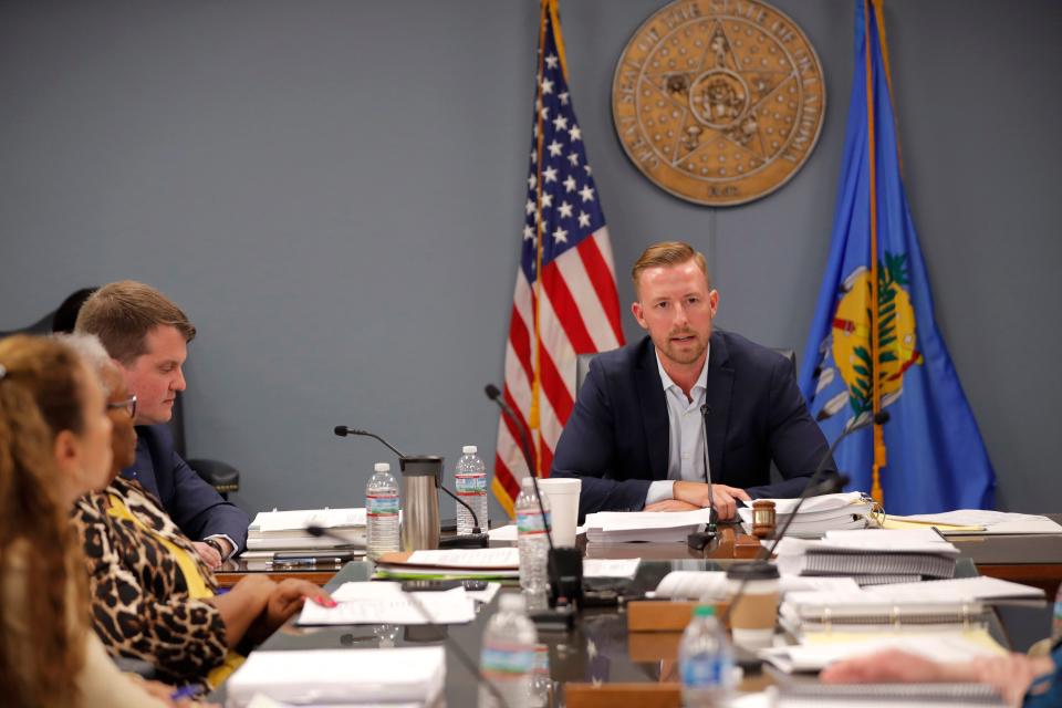
[[[305,597],[327,606],[334,601],[312,583],[263,575],[218,595],[214,572],[158,499],[118,476],[135,459],[135,398],[110,358],[83,356],[100,371],[114,430],[114,477],[102,492],[82,498],[73,514],[95,631],[112,654],[148,662],[162,680],[216,686],[242,660],[238,647],[272,634]]]

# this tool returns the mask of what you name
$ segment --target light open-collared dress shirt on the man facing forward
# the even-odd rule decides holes
[[[656,366],[660,372],[660,382],[664,384],[664,399],[667,402],[667,479],[660,479],[649,485],[645,496],[646,506],[674,499],[673,487],[677,480],[702,482],[706,479],[705,470],[705,438],[701,434],[700,407],[705,405],[708,391],[708,358],[711,356],[711,346],[705,352],[705,365],[697,376],[697,382],[689,389],[693,400],[686,397],[681,387],[671,381],[660,363],[660,353],[656,352]]]

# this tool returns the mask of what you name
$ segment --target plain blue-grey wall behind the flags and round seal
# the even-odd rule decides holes
[[[646,243],[686,238],[711,258],[723,326],[800,351],[852,3],[777,0],[824,64],[825,127],[785,188],[716,211],[647,183],[612,128],[615,61],[659,6],[562,8],[621,300]],[[908,196],[1000,506],[1058,511],[1062,4],[889,0],[887,19]],[[340,423],[492,459],[481,392],[502,377],[537,21],[535,2],[498,0],[3,3],[0,330],[118,278],[171,295],[200,332],[190,451],[243,471],[249,511],[362,503],[388,455]]]

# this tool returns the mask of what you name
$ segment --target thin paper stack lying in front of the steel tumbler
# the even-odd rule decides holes
[[[519,577],[520,550],[508,546],[386,553],[376,559],[376,576],[433,580]]]

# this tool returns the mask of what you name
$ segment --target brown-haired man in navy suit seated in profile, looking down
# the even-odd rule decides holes
[[[77,315],[76,330],[100,337],[136,396],[136,464],[122,476],[156,494],[199,555],[218,568],[246,548],[250,519],[177,455],[165,425],[177,393],[185,389],[181,366],[196,329],[163,293],[126,280],[93,293]]]

